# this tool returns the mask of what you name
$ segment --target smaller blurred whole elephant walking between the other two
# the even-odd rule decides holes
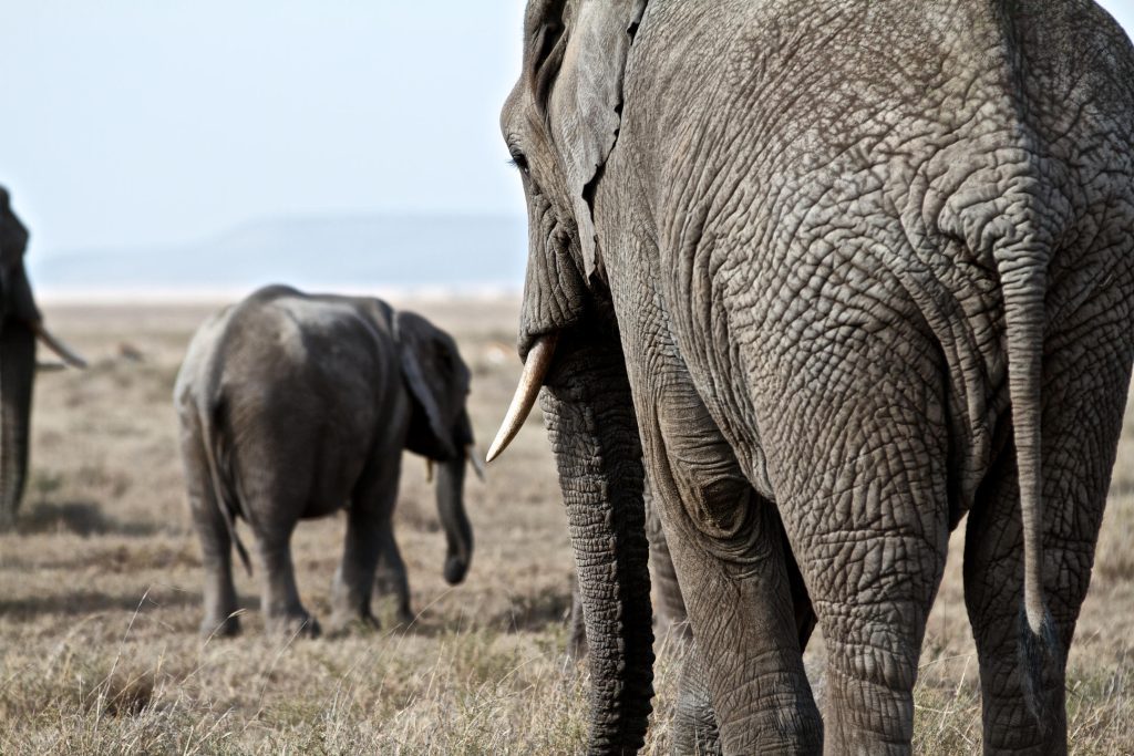
[[[318,635],[299,603],[289,542],[301,519],[342,508],[347,534],[332,625],[376,626],[375,571],[408,622],[409,588],[391,524],[403,449],[439,465],[445,578],[460,583],[473,552],[462,494],[473,443],[468,384],[447,333],[379,299],[268,287],[206,321],[174,390],[204,552],[202,634],[239,629],[231,564],[239,517],[255,536],[268,627]],[[243,555],[239,542],[237,549]]]

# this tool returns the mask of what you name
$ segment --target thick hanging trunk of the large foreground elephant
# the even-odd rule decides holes
[[[585,609],[590,751],[635,753],[645,740],[653,697],[637,422],[617,339],[566,343],[559,352],[541,404]]]

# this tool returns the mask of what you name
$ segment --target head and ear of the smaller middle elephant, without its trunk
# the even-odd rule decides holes
[[[407,312],[395,314],[393,337],[413,400],[406,449],[430,459],[456,458],[468,442],[460,419],[471,381],[456,342],[421,315]]]

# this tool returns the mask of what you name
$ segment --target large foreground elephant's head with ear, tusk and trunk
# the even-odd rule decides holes
[[[643,744],[653,652],[642,450],[593,198],[618,138],[644,10],[644,0],[532,0],[523,70],[501,116],[527,199],[526,360],[489,459],[542,387],[586,615],[591,747],[610,751]]]

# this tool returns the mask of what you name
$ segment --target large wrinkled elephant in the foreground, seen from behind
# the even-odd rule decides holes
[[[592,750],[650,711],[643,453],[726,753],[908,753],[966,512],[984,747],[1066,749],[1134,354],[1132,113],[1090,0],[530,0],[525,371],[489,456],[542,387]]]

